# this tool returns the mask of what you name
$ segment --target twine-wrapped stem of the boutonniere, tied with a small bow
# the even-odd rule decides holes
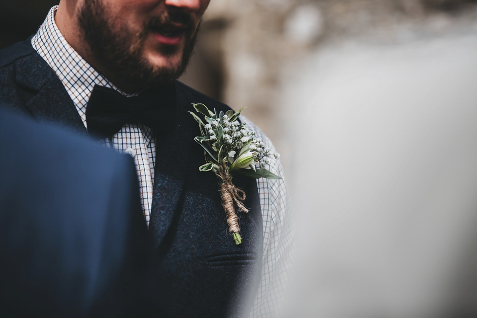
[[[245,200],[245,192],[237,188],[233,183],[232,179],[227,170],[227,165],[225,161],[222,161],[222,164],[219,167],[219,174],[222,178],[222,183],[220,184],[220,196],[222,198],[222,206],[224,207],[227,224],[229,225],[229,231],[233,234],[235,243],[238,245],[242,242],[240,237],[240,228],[239,228],[239,218],[235,210],[235,205],[237,205],[239,211],[245,213],[248,212],[248,209],[243,205]]]

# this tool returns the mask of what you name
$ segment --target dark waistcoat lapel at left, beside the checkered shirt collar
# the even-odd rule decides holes
[[[26,107],[38,120],[56,122],[86,133],[75,104],[50,66],[30,46],[32,54],[14,64],[15,80],[29,92]]]

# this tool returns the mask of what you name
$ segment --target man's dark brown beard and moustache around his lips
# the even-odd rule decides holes
[[[86,0],[79,11],[79,26],[92,55],[103,69],[115,77],[146,86],[157,86],[178,79],[184,73],[193,54],[200,23],[194,29],[192,18],[183,12],[171,11],[147,20],[139,34],[131,34],[127,25],[112,25],[107,8],[100,0]],[[141,56],[146,36],[168,22],[187,25],[186,43],[178,65],[159,67]],[[134,40],[131,40],[134,39]],[[135,41],[135,42],[134,42]],[[164,46],[164,56],[176,54],[180,48]]]

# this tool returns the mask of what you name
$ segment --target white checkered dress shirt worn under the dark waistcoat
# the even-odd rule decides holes
[[[111,87],[123,92],[100,75],[68,44],[55,23],[56,10],[57,6],[51,8],[38,32],[33,36],[31,44],[55,71],[87,128],[85,111],[94,85]],[[240,120],[274,151],[270,140],[258,127],[243,116]],[[102,143],[134,158],[140,180],[144,217],[149,226],[156,159],[156,141],[151,130],[144,125],[126,124],[111,139]],[[268,168],[273,173],[283,176],[279,160],[272,160]],[[288,194],[284,180],[262,178],[257,180],[257,185],[263,217],[264,253],[260,287],[251,317],[269,317],[278,307],[279,294],[286,281],[284,273],[289,268],[292,231],[289,229]]]

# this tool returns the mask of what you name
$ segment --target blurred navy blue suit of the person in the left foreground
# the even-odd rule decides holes
[[[118,317],[146,225],[131,158],[0,107],[0,316]]]

